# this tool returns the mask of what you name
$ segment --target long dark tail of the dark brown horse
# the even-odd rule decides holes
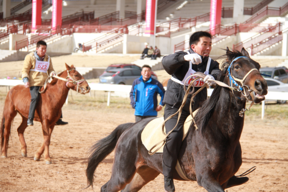
[[[127,130],[133,123],[119,125],[110,135],[97,141],[88,152],[88,166],[86,169],[88,187],[92,186],[94,181],[94,172],[98,165],[109,155],[115,148],[121,134]],[[87,188],[88,188],[87,187]]]

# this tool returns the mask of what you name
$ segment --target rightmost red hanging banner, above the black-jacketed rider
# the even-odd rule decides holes
[[[211,0],[210,5],[210,31],[214,35],[215,27],[221,24],[222,0]]]

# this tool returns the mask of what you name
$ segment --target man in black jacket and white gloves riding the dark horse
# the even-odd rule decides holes
[[[166,72],[172,75],[168,81],[167,91],[164,96],[164,103],[166,108],[164,112],[164,119],[176,113],[180,108],[185,91],[183,89],[185,80],[188,76],[195,72],[203,72],[206,74],[204,79],[199,79],[194,82],[195,91],[198,91],[205,83],[209,86],[215,84],[217,76],[220,72],[219,63],[209,57],[212,49],[212,36],[206,31],[197,31],[190,37],[190,50],[179,51],[167,55],[163,58],[162,64]],[[186,86],[190,81],[186,82]],[[175,187],[173,183],[173,172],[177,164],[178,151],[180,150],[183,138],[183,124],[186,118],[190,115],[190,101],[189,95],[182,109],[182,114],[176,128],[171,132],[166,140],[163,151],[163,174],[164,186],[166,192],[174,192]],[[200,91],[192,103],[192,111],[195,111],[199,104],[207,99],[207,88]],[[171,131],[177,123],[178,114],[169,119],[165,123],[166,132]],[[227,188],[241,185],[248,181],[248,177],[238,178],[233,176],[229,179]]]

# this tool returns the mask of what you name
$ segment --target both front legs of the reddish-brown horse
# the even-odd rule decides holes
[[[50,124],[48,120],[43,120],[42,122],[42,130],[43,130],[43,137],[44,137],[44,142],[42,146],[37,150],[34,160],[39,161],[41,155],[44,153],[44,159],[46,164],[51,164],[51,158],[49,156],[49,145],[50,145],[50,138],[51,138],[51,133],[53,131],[54,125],[50,127]]]

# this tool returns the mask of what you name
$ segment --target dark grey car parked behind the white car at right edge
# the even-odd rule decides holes
[[[260,72],[271,75],[270,78],[279,80],[283,83],[288,83],[288,69],[286,67],[265,67],[260,68]],[[267,76],[263,76],[269,78]]]

